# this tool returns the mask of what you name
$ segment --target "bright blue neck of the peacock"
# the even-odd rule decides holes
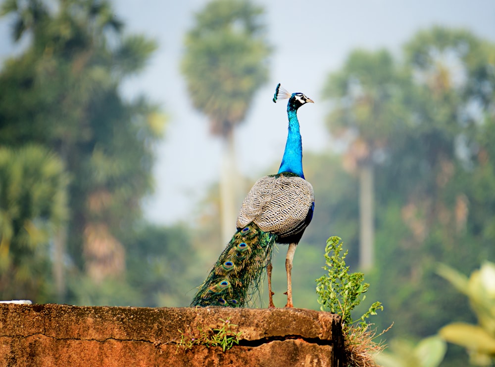
[[[292,172],[304,178],[304,173],[302,173],[302,141],[299,121],[297,120],[297,109],[288,105],[287,115],[289,116],[289,135],[278,173]]]

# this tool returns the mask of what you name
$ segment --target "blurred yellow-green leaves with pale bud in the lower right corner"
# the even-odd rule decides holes
[[[485,262],[469,279],[444,264],[439,265],[438,274],[469,298],[478,318],[478,325],[448,324],[440,329],[440,335],[466,348],[473,365],[492,366],[495,363],[495,263]]]

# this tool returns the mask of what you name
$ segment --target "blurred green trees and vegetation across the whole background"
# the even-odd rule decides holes
[[[210,133],[225,141],[225,166],[235,168],[232,147],[242,143],[232,132],[268,81],[276,47],[263,7],[203,5],[191,15],[176,72]],[[236,169],[226,177],[224,167],[192,220],[150,222],[143,200],[163,184],[153,183],[153,165],[173,105],[126,98],[121,88],[146,68],[157,42],[126,31],[110,1],[5,0],[1,12],[22,47],[0,69],[0,298],[188,306],[233,230],[222,213],[279,159],[249,177]],[[328,109],[318,123],[335,149],[304,155],[316,208],[294,259],[297,307],[319,308],[314,280],[326,239],[337,235],[348,265],[371,283],[370,302],[384,304],[377,329],[394,323],[387,340],[407,339],[413,355],[415,343],[447,324],[477,323],[462,283],[444,274],[458,289],[451,286],[439,263],[468,276],[495,261],[493,36],[433,26],[398,52],[355,49],[319,77]],[[256,145],[261,133],[243,137],[247,149],[269,149]],[[276,296],[284,257],[275,255]],[[441,366],[468,363],[464,349],[449,344]]]

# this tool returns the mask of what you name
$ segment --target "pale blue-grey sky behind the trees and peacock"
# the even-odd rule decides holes
[[[495,42],[494,0],[271,0],[265,7],[268,40],[275,51],[270,78],[256,94],[252,110],[236,132],[240,171],[256,178],[278,166],[287,137],[285,104],[271,99],[278,82],[315,101],[298,116],[304,151],[332,145],[324,128],[328,105],[323,83],[354,48],[386,47],[395,53],[420,29],[432,25],[466,28]],[[123,85],[126,96],[148,95],[169,116],[157,146],[155,194],[145,200],[148,219],[170,224],[188,220],[209,184],[218,180],[221,142],[208,134],[208,122],[194,111],[179,71],[184,34],[207,1],[118,0],[114,9],[130,33],[144,33],[159,49],[146,71]],[[9,23],[0,19],[0,60],[12,52]],[[0,86],[1,87],[1,86]],[[256,132],[258,139],[241,139]],[[249,145],[245,145],[249,144]],[[303,161],[304,164],[304,161]],[[275,173],[275,172],[273,172]],[[235,218],[233,218],[235,223]]]

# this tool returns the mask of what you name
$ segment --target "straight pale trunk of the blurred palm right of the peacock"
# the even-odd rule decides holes
[[[373,165],[364,163],[359,169],[359,265],[362,270],[373,266]]]

